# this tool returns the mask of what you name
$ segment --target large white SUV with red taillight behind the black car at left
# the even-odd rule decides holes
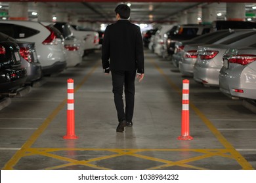
[[[24,20],[0,20],[0,30],[18,41],[35,42],[43,75],[60,73],[66,68],[64,44],[56,37],[51,26]]]

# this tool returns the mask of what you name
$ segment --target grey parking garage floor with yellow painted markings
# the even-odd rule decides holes
[[[240,100],[182,77],[171,61],[145,50],[136,82],[133,127],[116,132],[111,76],[100,52],[44,78],[0,110],[0,167],[16,170],[256,169],[256,118]],[[74,79],[75,135],[67,131],[67,80]],[[190,80],[190,136],[180,141],[182,80]]]

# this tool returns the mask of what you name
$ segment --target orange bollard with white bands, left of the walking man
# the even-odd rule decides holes
[[[75,135],[74,80],[68,79],[67,133],[63,139],[77,139]]]

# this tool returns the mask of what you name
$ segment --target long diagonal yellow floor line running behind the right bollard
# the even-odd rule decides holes
[[[165,77],[167,82],[171,85],[171,87],[177,91],[178,93],[182,93],[182,90],[177,87],[177,85],[163,72],[163,70],[152,60],[150,59],[150,62],[156,67],[156,69]],[[230,153],[232,154],[233,158],[236,159],[236,161],[242,166],[243,169],[249,169],[252,170],[253,167],[251,166],[248,161],[238,152],[236,149],[228,142],[224,136],[217,130],[217,128],[210,122],[210,120],[207,119],[207,117],[201,112],[191,101],[190,101],[190,107],[196,114],[201,118],[203,123],[211,130],[211,132],[215,135],[215,137],[223,144],[223,146],[230,150]]]

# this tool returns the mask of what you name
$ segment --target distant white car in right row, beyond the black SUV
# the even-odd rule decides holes
[[[152,44],[152,52],[157,54],[158,56],[161,56],[161,48],[163,46],[163,35],[169,31],[173,25],[161,25],[158,28],[158,31],[156,31],[156,34],[154,36],[153,44]]]

